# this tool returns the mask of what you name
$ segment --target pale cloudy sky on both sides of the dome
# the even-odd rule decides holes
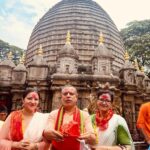
[[[0,0],[0,39],[26,49],[39,19],[60,0]],[[111,17],[117,28],[131,21],[150,19],[150,0],[93,0]]]

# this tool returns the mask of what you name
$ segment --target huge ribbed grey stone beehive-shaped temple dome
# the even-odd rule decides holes
[[[124,49],[119,31],[105,12],[92,0],[62,0],[39,20],[33,29],[26,53],[26,65],[33,61],[40,44],[44,57],[51,65],[57,62],[59,51],[65,45],[67,31],[71,32],[71,44],[79,56],[79,63],[89,65],[98,47],[99,33],[105,37],[106,48],[113,53],[113,69],[124,64]]]

